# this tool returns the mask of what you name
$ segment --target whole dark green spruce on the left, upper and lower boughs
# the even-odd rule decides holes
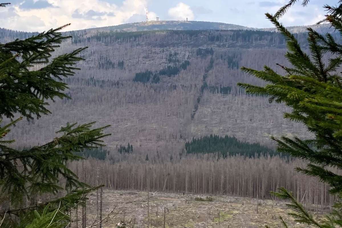
[[[102,146],[102,138],[109,135],[104,133],[108,126],[67,124],[51,142],[24,150],[10,147],[15,140],[6,139],[18,121],[47,115],[49,101],[69,98],[64,93],[68,86],[62,80],[75,74],[75,64],[82,60],[78,54],[86,48],[51,58],[59,44],[70,38],[60,32],[66,26],[0,43],[0,203],[9,202],[0,211],[2,227],[66,227],[68,210],[96,189],[82,183],[67,162],[82,159],[75,153],[84,148]],[[31,70],[34,66],[40,69]],[[1,124],[3,118],[11,121]],[[61,177],[64,187],[59,184]],[[63,189],[69,193],[60,199],[23,207],[24,199],[43,193],[54,195]]]

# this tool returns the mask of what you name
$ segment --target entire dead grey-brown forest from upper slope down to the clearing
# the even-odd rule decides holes
[[[1,42],[19,36],[13,33],[2,31]],[[79,64],[81,70],[65,80],[72,99],[50,102],[49,116],[19,122],[11,132],[16,136],[15,146],[44,144],[67,122],[97,121],[97,126],[111,124],[112,135],[105,142],[111,159],[70,163],[81,180],[91,185],[103,176],[105,187],[114,190],[259,199],[272,199],[269,191],[284,186],[306,205],[332,205],[335,198],[328,194],[327,185],[294,171],[304,166],[303,160],[181,155],[187,140],[210,134],[234,136],[272,149],[271,135],[310,137],[304,126],[282,118],[285,106],[269,104],[267,97],[245,94],[236,86],[237,82],[262,84],[242,73],[242,66],[261,69],[268,63],[281,72],[276,64],[287,61],[279,33],[88,29],[68,34],[73,39],[64,42],[56,55],[89,46],[82,53],[86,61]],[[307,46],[304,33],[296,36]],[[139,73],[148,80],[139,81]],[[128,143],[134,152],[119,154],[117,146]]]

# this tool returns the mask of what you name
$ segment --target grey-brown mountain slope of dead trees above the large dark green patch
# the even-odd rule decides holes
[[[1,42],[30,36],[0,31]],[[66,79],[71,100],[51,102],[52,115],[23,120],[13,129],[17,146],[44,143],[66,122],[111,124],[109,146],[181,151],[193,137],[216,134],[272,146],[271,134],[307,135],[284,120],[285,106],[249,96],[237,82],[262,84],[240,71],[264,63],[281,72],[285,41],[277,32],[184,30],[115,32],[80,30],[56,54],[89,46],[82,70]],[[305,33],[297,33],[304,49]],[[334,35],[335,36],[335,35]],[[338,36],[335,36],[339,39]],[[63,110],[63,111],[61,111]],[[42,132],[44,131],[44,132]]]

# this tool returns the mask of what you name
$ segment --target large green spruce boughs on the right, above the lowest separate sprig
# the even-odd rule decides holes
[[[304,53],[297,40],[288,30],[270,15],[266,16],[275,24],[288,40],[289,51],[286,57],[293,68],[283,67],[287,73],[279,75],[269,67],[263,71],[242,68],[243,71],[264,81],[270,82],[264,87],[239,83],[247,93],[270,96],[269,101],[285,103],[293,110],[284,113],[284,117],[303,123],[307,129],[315,134],[315,138],[302,140],[298,137],[282,136],[272,138],[278,143],[278,151],[286,152],[293,157],[305,158],[311,163],[302,173],[317,176],[331,185],[331,192],[342,191],[342,176],[332,173],[324,166],[342,167],[337,154],[342,153],[342,86],[340,76],[335,72],[341,65],[342,50],[336,49],[333,40],[327,40],[312,29],[308,29],[312,59]],[[337,57],[329,59],[326,66],[323,54],[331,52]]]

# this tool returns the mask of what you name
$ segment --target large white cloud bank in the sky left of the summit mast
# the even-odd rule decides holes
[[[54,8],[21,9],[19,4],[0,10],[13,11],[15,17],[0,17],[0,25],[5,28],[25,31],[43,31],[68,23],[65,30],[79,30],[94,27],[123,24],[134,14],[145,15],[145,7],[150,0],[124,0],[121,6],[101,0],[48,0]],[[73,17],[74,14],[74,17]],[[149,17],[155,18],[154,12]],[[42,23],[43,22],[43,23]]]

